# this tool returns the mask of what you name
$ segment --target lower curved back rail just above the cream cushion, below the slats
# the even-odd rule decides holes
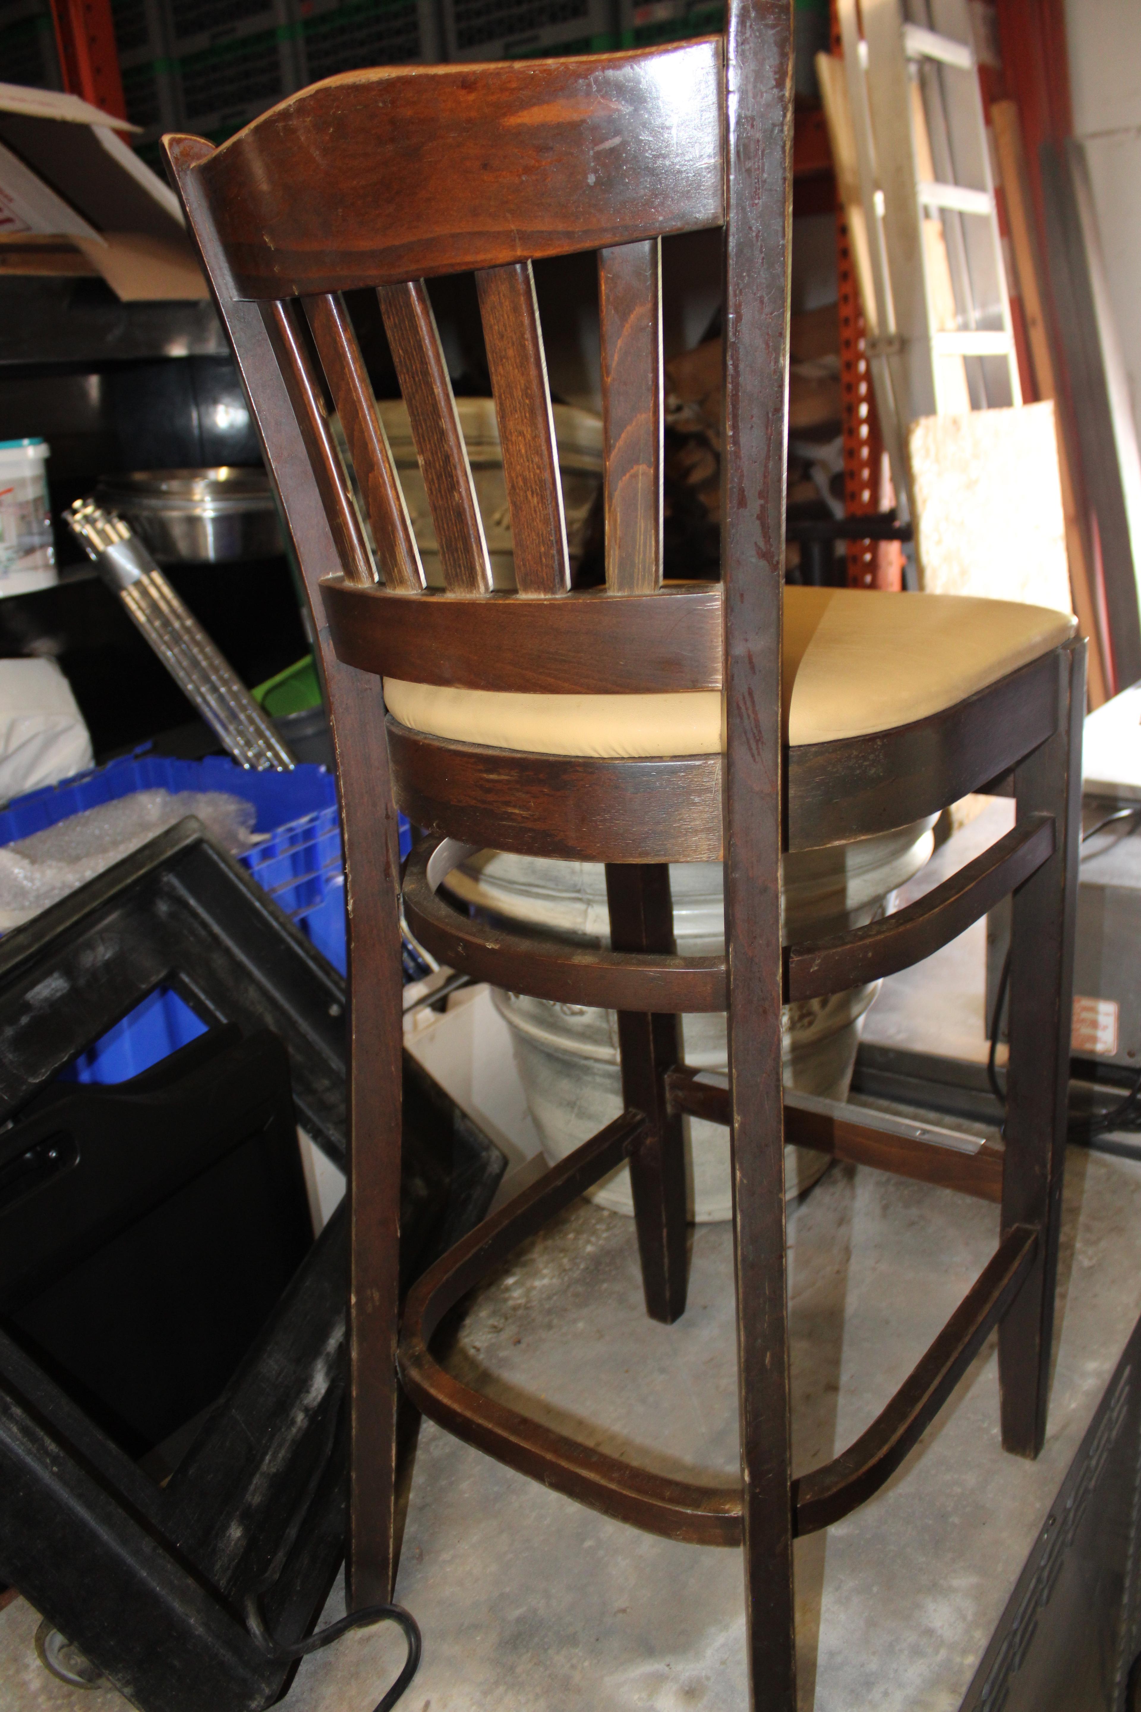
[[[337,657],[407,683],[546,695],[720,690],[720,589],[710,584],[655,596],[412,601],[335,577],[322,594]]]

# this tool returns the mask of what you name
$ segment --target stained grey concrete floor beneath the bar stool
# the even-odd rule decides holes
[[[990,842],[994,829],[975,835]],[[967,854],[960,846],[953,865]],[[869,1034],[943,1051],[951,1037],[958,1049],[961,1034],[975,1056],[980,945],[939,955],[944,964],[929,966],[925,981],[896,978],[910,983],[898,996],[888,983]],[[1071,1149],[1064,1221],[1042,1457],[1020,1462],[999,1447],[990,1340],[890,1484],[797,1543],[804,1712],[960,1707],[1141,1313],[1141,1166]],[[833,1166],[789,1234],[802,1472],[848,1443],[905,1378],[989,1258],[997,1212]],[[469,1305],[450,1359],[489,1394],[590,1443],[730,1484],[730,1258],[727,1226],[698,1228],[688,1311],[674,1327],[655,1325],[641,1310],[631,1224],[578,1204]],[[739,1712],[746,1703],[737,1553],[607,1522],[431,1424],[419,1440],[397,1596],[424,1633],[424,1664],[402,1702],[409,1712]],[[339,1609],[337,1592],[327,1618]],[[34,1626],[22,1601],[0,1613],[3,1712],[125,1705],[113,1690],[68,1690],[46,1676]],[[392,1632],[351,1635],[301,1666],[282,1705],[369,1712],[400,1659]]]

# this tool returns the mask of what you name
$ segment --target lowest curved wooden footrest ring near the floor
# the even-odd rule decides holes
[[[416,1407],[438,1426],[566,1498],[665,1539],[739,1546],[739,1488],[676,1481],[592,1450],[464,1385],[429,1349],[443,1315],[547,1219],[621,1166],[645,1133],[641,1113],[623,1113],[429,1267],[404,1311],[400,1378]],[[840,1520],[895,1472],[1014,1299],[1037,1241],[1037,1231],[1014,1226],[867,1431],[833,1462],[794,1481],[794,1534]]]

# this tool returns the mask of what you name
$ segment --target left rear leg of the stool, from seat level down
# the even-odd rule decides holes
[[[395,1580],[402,972],[397,811],[380,681],[330,683],[349,919],[349,1611]],[[378,837],[378,798],[387,806]]]

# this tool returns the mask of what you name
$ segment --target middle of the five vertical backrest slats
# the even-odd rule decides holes
[[[488,541],[428,286],[412,279],[380,286],[376,296],[409,407],[445,586],[453,594],[489,594]]]

